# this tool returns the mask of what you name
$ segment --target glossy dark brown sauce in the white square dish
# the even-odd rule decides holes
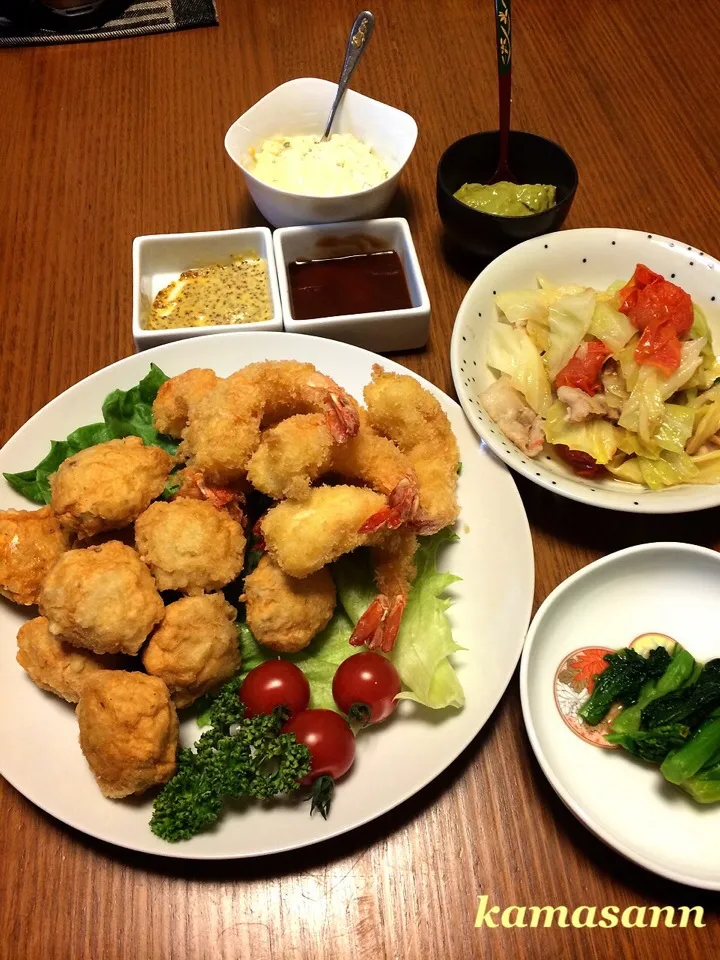
[[[293,317],[315,320],[412,307],[405,271],[394,250],[288,265]]]

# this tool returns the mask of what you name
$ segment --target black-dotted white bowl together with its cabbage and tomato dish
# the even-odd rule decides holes
[[[717,260],[591,228],[494,260],[451,361],[474,429],[518,473],[594,506],[682,513],[720,503],[718,343]]]

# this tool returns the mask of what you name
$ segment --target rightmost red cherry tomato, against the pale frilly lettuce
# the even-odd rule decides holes
[[[380,723],[397,707],[400,675],[387,657],[368,651],[343,660],[333,678],[333,698],[350,720]]]

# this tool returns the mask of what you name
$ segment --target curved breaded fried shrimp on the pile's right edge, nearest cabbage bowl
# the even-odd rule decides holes
[[[415,468],[420,509],[416,529],[435,533],[459,513],[457,440],[447,414],[414,377],[386,373],[375,364],[364,391],[375,430],[393,440]]]

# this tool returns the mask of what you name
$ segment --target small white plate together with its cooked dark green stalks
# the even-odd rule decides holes
[[[631,547],[550,594],[520,670],[530,743],[567,807],[646,869],[711,890],[720,889],[718,622],[720,555]]]

